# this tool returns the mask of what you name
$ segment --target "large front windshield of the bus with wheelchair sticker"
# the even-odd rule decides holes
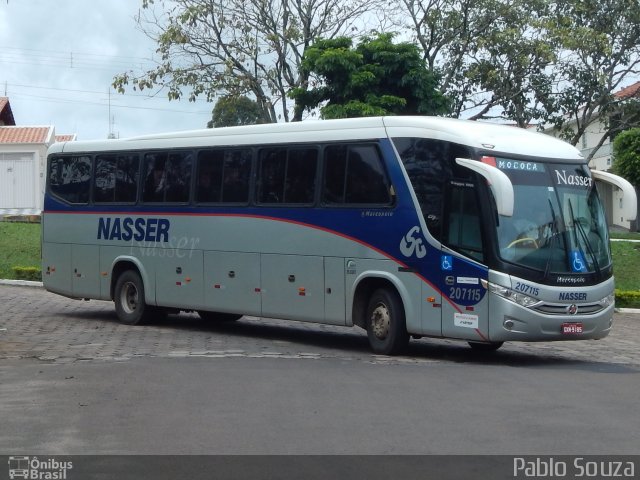
[[[584,165],[496,158],[513,182],[512,217],[499,217],[500,256],[545,273],[589,273],[609,266],[602,204]]]

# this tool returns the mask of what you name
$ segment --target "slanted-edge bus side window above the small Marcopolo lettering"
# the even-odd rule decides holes
[[[374,145],[326,148],[323,203],[390,205],[390,185]]]

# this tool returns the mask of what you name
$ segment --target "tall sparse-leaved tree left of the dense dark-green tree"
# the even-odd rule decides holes
[[[165,89],[170,100],[254,98],[263,122],[291,120],[287,93],[315,38],[362,26],[382,0],[142,0],[136,22],[158,45],[156,68],[117,75],[114,87]]]

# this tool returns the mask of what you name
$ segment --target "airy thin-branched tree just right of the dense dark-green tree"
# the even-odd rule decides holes
[[[453,99],[451,116],[528,125],[549,95],[546,0],[401,0],[393,16]]]

